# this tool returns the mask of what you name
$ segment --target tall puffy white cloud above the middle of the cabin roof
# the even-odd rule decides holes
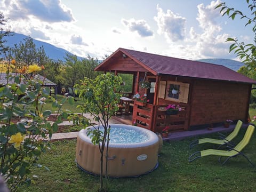
[[[157,33],[159,35],[164,34],[169,42],[184,39],[186,18],[174,14],[171,10],[167,10],[167,13],[164,13],[157,5],[157,17],[154,17],[154,20],[158,26]]]

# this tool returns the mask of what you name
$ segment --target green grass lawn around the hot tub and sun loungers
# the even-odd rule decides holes
[[[242,139],[245,129],[234,139]],[[203,137],[218,138],[212,133]],[[196,138],[164,142],[158,157],[158,168],[138,178],[109,179],[109,191],[255,191],[256,168],[238,156],[221,166],[217,156],[199,158],[189,163],[188,157],[197,150],[217,148],[204,144],[189,149],[189,143]],[[256,133],[244,149],[244,153],[256,164]],[[97,191],[99,177],[79,170],[75,163],[76,140],[52,143],[52,150],[43,155],[39,163],[51,170],[35,168],[35,183],[18,191]]]

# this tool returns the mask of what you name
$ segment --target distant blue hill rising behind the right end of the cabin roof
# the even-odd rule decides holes
[[[235,61],[232,59],[199,59],[197,61],[207,62],[207,63],[213,63],[217,65],[223,65],[229,69],[232,69],[234,71],[237,71],[240,67],[244,65],[243,62]]]

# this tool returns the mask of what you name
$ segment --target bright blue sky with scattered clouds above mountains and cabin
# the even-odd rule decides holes
[[[226,0],[245,13],[245,0]],[[181,59],[235,59],[228,37],[253,43],[246,20],[221,17],[220,0],[2,0],[15,33],[79,57],[105,58],[119,47]]]

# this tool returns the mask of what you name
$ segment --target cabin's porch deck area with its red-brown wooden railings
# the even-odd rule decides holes
[[[124,124],[137,125],[154,132],[162,132],[166,126],[169,127],[170,132],[188,130],[188,105],[186,104],[180,104],[182,110],[176,115],[166,115],[166,105],[155,106],[136,100],[129,105],[131,105],[129,113],[125,111],[127,107],[122,107],[122,113],[113,118]]]

